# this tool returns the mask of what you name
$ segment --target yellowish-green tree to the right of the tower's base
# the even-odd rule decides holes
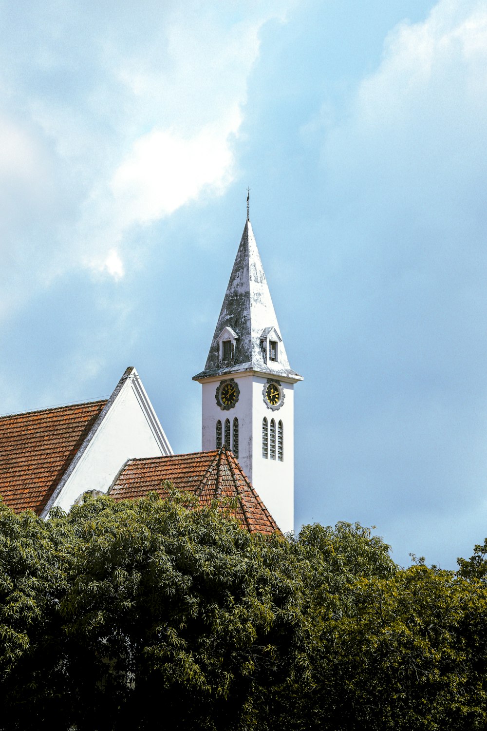
[[[486,727],[484,588],[421,563],[401,569],[358,524],[307,526],[299,544],[315,618],[303,729]]]

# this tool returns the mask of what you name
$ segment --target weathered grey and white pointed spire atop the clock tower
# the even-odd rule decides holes
[[[218,338],[225,327],[230,328],[237,336],[231,363],[222,363],[220,359]],[[266,362],[262,338],[272,328],[275,328],[279,341],[278,359]],[[257,371],[302,380],[302,376],[289,367],[256,239],[248,220],[245,222],[234,268],[231,270],[206,366],[194,379],[242,371]]]

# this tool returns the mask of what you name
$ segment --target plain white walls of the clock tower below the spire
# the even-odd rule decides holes
[[[223,441],[226,418],[233,424],[239,420],[239,463],[256,488],[266,508],[281,531],[294,529],[294,385],[279,380],[284,390],[283,406],[276,411],[267,409],[262,390],[266,378],[251,374],[233,374],[239,385],[239,400],[233,409],[221,409],[215,392],[222,378],[202,383],[202,450],[216,447],[216,423],[221,420]],[[283,422],[284,444],[282,462],[262,457],[262,420]],[[233,436],[233,435],[232,435]],[[233,444],[230,445],[233,450]]]

